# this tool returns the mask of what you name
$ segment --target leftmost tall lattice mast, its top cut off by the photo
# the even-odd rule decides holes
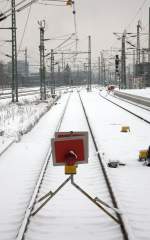
[[[12,102],[18,102],[17,40],[16,40],[15,0],[11,0],[11,8],[12,8]]]

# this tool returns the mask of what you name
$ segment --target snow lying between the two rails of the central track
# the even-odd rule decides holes
[[[70,99],[60,131],[88,131],[77,93]],[[97,196],[112,205],[99,160],[90,138],[89,164],[79,165],[75,182],[93,197]],[[39,198],[54,191],[66,179],[63,167],[48,167]],[[121,240],[120,226],[104,214],[70,183],[31,217],[25,240]]]

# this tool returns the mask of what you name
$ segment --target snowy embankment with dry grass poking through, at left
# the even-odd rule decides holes
[[[51,108],[56,99],[46,101],[24,99],[17,104],[6,103],[0,106],[0,155],[13,141],[19,141],[29,132],[39,119]]]

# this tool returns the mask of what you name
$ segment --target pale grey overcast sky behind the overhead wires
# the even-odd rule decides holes
[[[21,0],[16,0],[16,3]],[[42,0],[40,0],[42,2]],[[43,3],[48,1],[43,0]],[[50,2],[49,2],[50,3]],[[143,4],[144,3],[144,4]],[[140,9],[140,7],[143,7]],[[0,10],[9,8],[10,1],[0,0]],[[150,0],[75,0],[76,19],[80,49],[87,50],[87,36],[92,38],[93,57],[97,58],[102,49],[120,47],[120,41],[116,40],[113,32],[128,31],[136,32],[138,19],[141,19],[143,31],[148,31],[148,8]],[[17,13],[17,45],[19,47],[29,8]],[[28,48],[28,54],[32,63],[39,62],[39,26],[38,20],[46,20],[46,38],[71,34],[74,32],[74,21],[72,8],[69,6],[56,7],[40,4],[33,4],[29,16],[29,21],[22,41],[21,49]],[[0,27],[10,26],[10,17],[0,23]],[[8,33],[10,30],[0,30],[0,40],[11,39]],[[133,40],[134,41],[134,40]],[[147,37],[144,39],[145,46]],[[134,41],[135,42],[135,41]],[[60,41],[46,42],[47,51],[55,48]],[[11,54],[10,43],[0,42],[0,59],[8,61],[5,53]],[[19,59],[23,58],[20,53]]]

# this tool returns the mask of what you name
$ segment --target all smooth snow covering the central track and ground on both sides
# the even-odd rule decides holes
[[[98,91],[91,93],[82,91],[81,96],[99,150],[103,153],[103,161],[107,163],[109,160],[119,160],[126,164],[124,167],[108,169],[108,171],[115,184],[119,207],[132,235],[130,239],[149,240],[150,168],[137,159],[139,150],[150,145],[150,127],[102,99]],[[20,142],[15,143],[0,158],[0,239],[2,240],[16,239],[20,221],[28,206],[30,194],[33,192],[67,97],[68,94],[64,94],[58,104],[42,117],[32,131],[24,135]],[[126,107],[128,107],[127,103]],[[137,111],[137,108],[134,108]],[[123,125],[130,126],[131,132],[121,133],[120,129]],[[61,130],[87,130],[76,93],[71,97]],[[62,167],[53,167],[50,163],[40,194],[43,195],[50,189],[54,190],[64,178]],[[75,178],[89,193],[98,197],[105,196],[104,200],[110,202],[103,187],[99,163],[91,141],[89,164],[79,166]],[[118,226],[111,220],[108,221],[108,216],[72,189],[70,184],[35,216],[26,234],[28,240],[51,238],[53,240],[100,238],[121,240]]]

